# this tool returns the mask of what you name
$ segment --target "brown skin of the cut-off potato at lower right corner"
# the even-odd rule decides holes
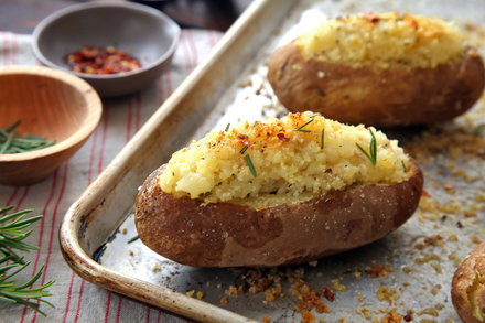
[[[459,267],[451,289],[453,305],[463,322],[484,322],[473,315],[473,292],[477,306],[485,313],[485,241],[476,246]]]

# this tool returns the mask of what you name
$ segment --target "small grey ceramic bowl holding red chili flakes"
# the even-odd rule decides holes
[[[88,82],[101,97],[130,94],[153,83],[170,64],[181,29],[162,12],[130,2],[93,2],[58,10],[33,32],[32,47],[42,64],[68,71]],[[84,46],[114,46],[141,63],[128,73],[94,75],[75,73],[66,54]]]

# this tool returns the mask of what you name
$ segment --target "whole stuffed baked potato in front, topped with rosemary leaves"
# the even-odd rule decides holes
[[[315,260],[384,237],[416,211],[417,162],[374,128],[317,114],[213,131],[142,184],[136,227],[194,267]]]

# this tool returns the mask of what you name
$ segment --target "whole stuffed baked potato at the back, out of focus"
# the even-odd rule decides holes
[[[324,21],[272,54],[268,79],[290,111],[376,127],[451,120],[485,83],[453,23],[396,12]]]

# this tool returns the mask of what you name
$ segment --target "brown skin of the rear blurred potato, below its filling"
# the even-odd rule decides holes
[[[305,60],[291,42],[268,63],[268,79],[290,111],[315,111],[351,125],[377,127],[425,125],[451,120],[482,95],[482,58],[464,58],[435,68],[353,68]]]

